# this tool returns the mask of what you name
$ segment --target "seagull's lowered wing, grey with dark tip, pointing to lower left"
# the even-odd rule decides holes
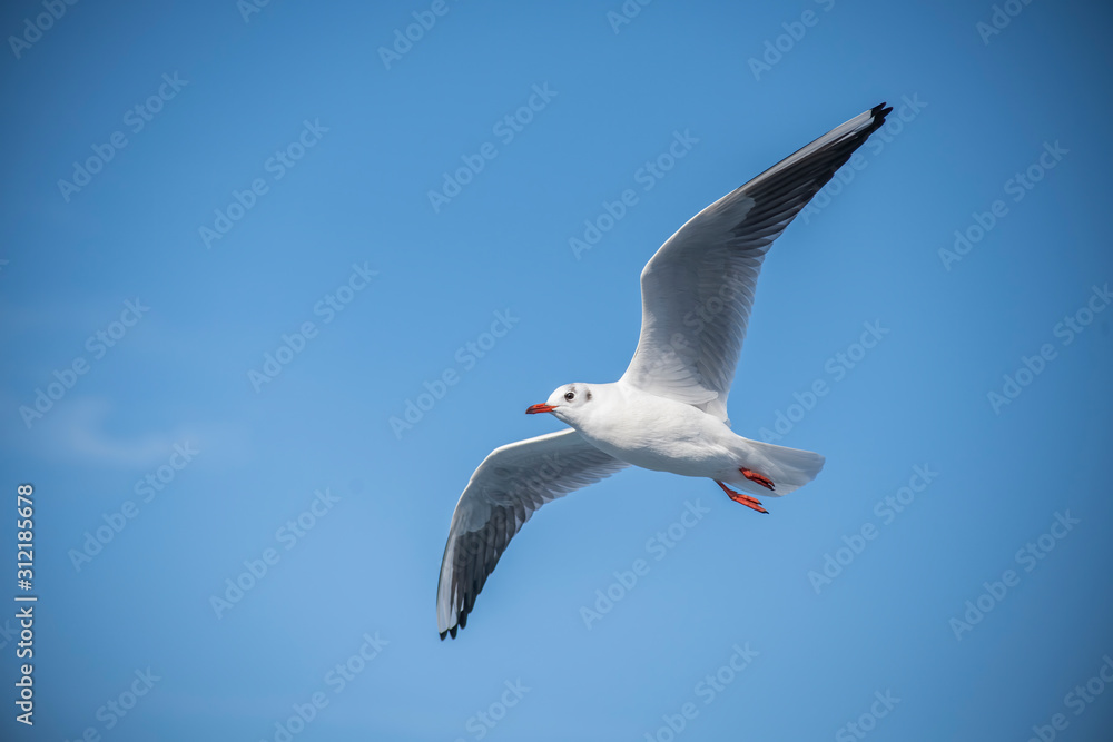
[[[436,586],[441,639],[456,636],[499,557],[533,512],[627,464],[574,429],[519,441],[483,459],[456,503]]]

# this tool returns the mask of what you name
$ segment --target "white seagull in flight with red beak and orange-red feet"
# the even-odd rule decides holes
[[[442,640],[467,624],[487,576],[538,508],[619,469],[707,477],[758,513],[768,511],[755,495],[787,495],[819,474],[819,454],[732,433],[727,395],[769,246],[892,110],[880,103],[833,129],[657,250],[641,271],[641,336],[622,377],[567,384],[530,406],[526,414],[549,413],[570,427],[495,448],[472,474],[441,562]]]

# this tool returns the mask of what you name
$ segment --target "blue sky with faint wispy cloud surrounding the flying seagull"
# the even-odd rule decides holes
[[[754,4],[7,3],[4,739],[1107,733],[1111,11]],[[474,467],[621,375],[683,221],[883,100],[730,398],[818,479],[623,472],[440,642]]]

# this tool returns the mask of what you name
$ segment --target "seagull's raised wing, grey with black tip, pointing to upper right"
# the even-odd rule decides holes
[[[884,122],[885,103],[697,214],[641,273],[641,337],[622,382],[727,419],[769,245]]]

